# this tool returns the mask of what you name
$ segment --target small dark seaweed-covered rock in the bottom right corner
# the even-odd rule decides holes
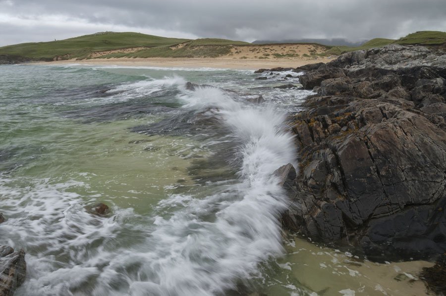
[[[446,295],[446,253],[440,256],[432,267],[424,267],[420,278],[429,291],[437,295]]]

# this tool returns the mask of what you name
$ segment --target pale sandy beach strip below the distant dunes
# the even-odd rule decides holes
[[[233,70],[257,70],[260,68],[292,67],[297,68],[306,64],[327,63],[336,57],[318,57],[318,58],[294,58],[294,59],[232,59],[232,58],[92,58],[84,60],[59,60],[50,62],[29,62],[24,65],[62,65],[62,64],[81,64],[81,65],[117,65],[131,67],[181,67],[181,68],[217,68]]]

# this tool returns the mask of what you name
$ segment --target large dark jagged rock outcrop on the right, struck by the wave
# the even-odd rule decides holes
[[[372,52],[394,64],[403,58],[416,64],[410,56],[419,54],[439,57],[425,49],[396,55],[390,49]],[[374,62],[368,54],[349,53],[350,63]],[[288,189],[293,202],[284,224],[314,240],[347,242],[368,255],[443,253],[446,63],[330,68],[346,63],[346,56],[339,59],[302,76],[302,85],[315,87],[318,95],[307,98],[308,109],[293,118],[300,168]]]

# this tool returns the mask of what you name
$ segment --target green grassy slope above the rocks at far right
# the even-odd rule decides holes
[[[359,49],[371,49],[376,47],[383,47],[388,44],[400,44],[400,45],[422,45],[422,46],[441,46],[446,44],[446,32],[440,31],[420,31],[409,34],[398,40],[375,38],[367,41],[360,47],[345,47],[335,46],[327,51],[328,54],[341,54],[347,51],[359,50]]]

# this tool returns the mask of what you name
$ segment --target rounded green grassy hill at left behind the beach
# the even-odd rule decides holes
[[[174,50],[172,47],[183,44]],[[102,52],[101,56],[95,57],[114,57],[114,56],[194,56],[196,54],[213,55],[212,51],[226,52],[219,49],[227,45],[248,44],[240,41],[231,41],[224,39],[177,39],[166,38],[153,35],[146,35],[133,32],[101,32],[91,35],[84,35],[75,38],[69,38],[59,41],[22,43],[0,48],[0,56],[3,60],[45,60],[54,59],[85,59],[90,58],[94,52]],[[211,46],[207,50],[197,47]],[[122,50],[120,50],[122,49]],[[129,49],[125,52],[124,49]],[[114,52],[105,54],[104,51],[112,50]],[[121,51],[121,52],[116,52]],[[136,52],[134,52],[136,51]],[[139,53],[138,53],[139,52]],[[215,55],[215,54],[214,54]]]

